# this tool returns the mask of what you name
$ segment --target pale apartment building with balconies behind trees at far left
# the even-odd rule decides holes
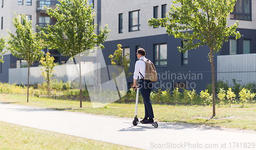
[[[90,1],[92,3],[92,0]],[[8,31],[15,33],[16,29],[13,26],[12,19],[14,12],[16,15],[25,14],[28,20],[32,21],[33,32],[38,32],[36,25],[46,27],[47,22],[55,24],[56,19],[51,18],[47,13],[46,7],[55,8],[59,4],[57,0],[0,0],[0,36],[6,37]],[[5,48],[4,51],[7,51]],[[55,58],[54,62],[62,64],[66,63],[68,58],[63,57],[56,49],[42,49],[45,53],[49,52]],[[33,63],[33,66],[38,66],[39,63]],[[9,82],[9,68],[27,67],[27,62],[16,58],[10,52],[5,53],[4,63],[0,64],[0,82]]]

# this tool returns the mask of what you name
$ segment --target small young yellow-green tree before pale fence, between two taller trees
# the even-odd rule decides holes
[[[48,96],[50,96],[49,92],[50,92],[50,80],[51,78],[54,76],[53,75],[53,67],[56,66],[55,63],[53,63],[54,61],[54,57],[50,57],[50,53],[47,52],[46,53],[46,57],[43,57],[40,59],[40,63],[42,64],[42,66],[44,66],[44,68],[42,68],[41,70],[45,70],[42,71],[42,76],[45,78],[46,82],[47,82],[47,88],[48,88]]]

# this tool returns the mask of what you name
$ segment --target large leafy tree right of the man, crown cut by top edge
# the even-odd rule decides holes
[[[175,38],[187,41],[184,47],[177,47],[185,53],[188,49],[208,45],[208,54],[211,63],[212,76],[212,116],[215,116],[215,74],[213,54],[218,52],[223,41],[228,41],[229,36],[240,38],[236,32],[238,21],[230,27],[227,25],[227,17],[233,11],[236,0],[174,0],[174,4],[182,4],[180,7],[172,5],[165,18],[149,19],[150,27],[164,26],[166,32]],[[189,32],[191,31],[191,32]]]

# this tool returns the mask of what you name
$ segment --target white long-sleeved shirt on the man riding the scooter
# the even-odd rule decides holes
[[[145,67],[146,67],[146,63],[144,61],[141,60],[147,60],[144,56],[140,58],[140,60],[137,60],[135,63],[135,69],[134,69],[134,73],[133,73],[133,79],[137,80],[138,77],[139,79],[142,79],[143,77],[145,77]],[[141,77],[141,74],[143,77]]]

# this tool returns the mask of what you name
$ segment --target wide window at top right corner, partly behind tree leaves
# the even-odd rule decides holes
[[[231,19],[251,20],[251,0],[237,0]]]

